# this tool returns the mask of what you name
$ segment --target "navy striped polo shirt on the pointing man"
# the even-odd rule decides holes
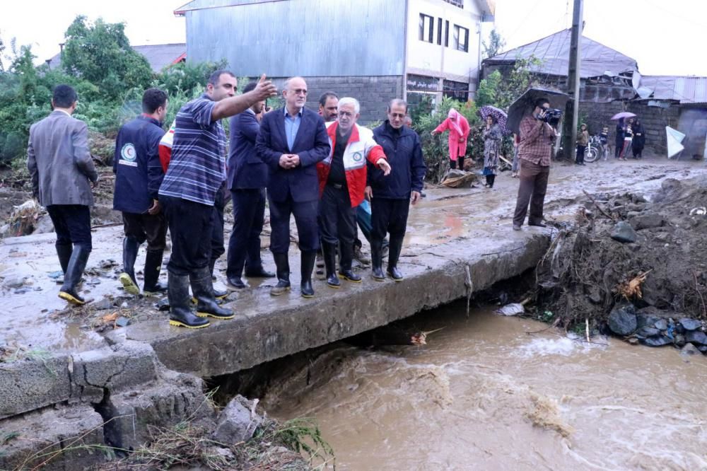
[[[226,133],[212,121],[216,102],[201,95],[177,112],[172,156],[160,194],[214,206],[226,180]]]

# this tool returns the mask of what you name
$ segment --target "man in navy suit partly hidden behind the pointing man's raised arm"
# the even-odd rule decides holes
[[[248,83],[243,93],[255,90]],[[230,118],[230,153],[228,156],[228,189],[233,200],[233,232],[228,240],[228,286],[245,288],[241,276],[270,278],[275,274],[263,269],[260,257],[260,233],[265,214],[267,165],[255,153],[255,139],[260,129],[257,119],[265,100]]]

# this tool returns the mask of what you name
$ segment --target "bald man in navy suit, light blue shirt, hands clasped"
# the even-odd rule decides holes
[[[301,255],[301,294],[314,296],[312,269],[319,248],[317,162],[329,156],[329,136],[322,117],[305,109],[307,83],[301,77],[285,82],[285,106],[263,117],[255,149],[267,164],[270,207],[270,250],[277,267],[279,296],[290,289],[290,215],[294,214]]]

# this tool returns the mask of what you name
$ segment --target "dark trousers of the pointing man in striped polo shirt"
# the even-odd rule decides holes
[[[172,255],[167,269],[179,276],[209,266],[214,207],[187,199],[160,195],[172,236]]]

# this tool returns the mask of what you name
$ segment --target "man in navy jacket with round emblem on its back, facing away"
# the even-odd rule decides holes
[[[131,294],[140,293],[134,265],[138,248],[146,240],[143,291],[167,289],[158,281],[167,235],[167,223],[158,200],[164,177],[158,149],[165,134],[162,124],[167,115],[167,93],[158,88],[146,90],[142,95],[142,111],[142,115],[120,128],[113,158],[113,209],[122,211],[125,233],[123,272],[118,279]]]

